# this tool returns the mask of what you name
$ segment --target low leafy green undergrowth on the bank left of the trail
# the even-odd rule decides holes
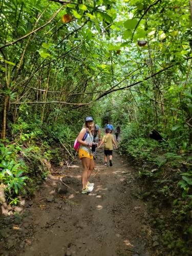
[[[35,118],[35,122],[34,119]],[[58,164],[74,157],[73,143],[77,136],[68,124],[40,123],[37,116],[16,124],[9,122],[15,140],[0,144],[0,183],[6,200],[17,204],[19,196],[30,198],[37,181],[46,179],[50,163]],[[15,142],[17,141],[17,142]]]

